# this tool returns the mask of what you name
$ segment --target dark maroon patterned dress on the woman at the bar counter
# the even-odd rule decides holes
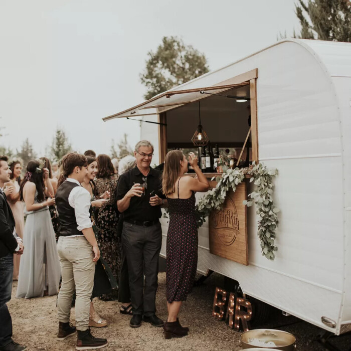
[[[167,301],[185,301],[192,291],[198,266],[198,228],[195,217],[195,194],[189,199],[168,198]]]

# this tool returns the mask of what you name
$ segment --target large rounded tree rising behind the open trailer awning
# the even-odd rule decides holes
[[[149,51],[148,56],[140,74],[147,88],[146,100],[209,71],[205,55],[177,37],[163,37],[157,51]]]

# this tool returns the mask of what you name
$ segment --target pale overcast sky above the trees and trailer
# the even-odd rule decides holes
[[[42,156],[55,130],[73,149],[109,153],[139,123],[102,117],[144,100],[139,74],[164,36],[218,69],[298,30],[295,0],[1,0],[0,146],[28,137]]]

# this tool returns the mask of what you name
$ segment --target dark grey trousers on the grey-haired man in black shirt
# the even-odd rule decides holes
[[[150,316],[155,313],[158,255],[161,243],[160,223],[150,227],[123,223],[122,244],[128,263],[133,314]],[[144,288],[143,275],[145,276]]]

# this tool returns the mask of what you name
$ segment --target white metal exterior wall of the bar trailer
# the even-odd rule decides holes
[[[329,66],[306,44],[319,48],[322,57],[328,54]],[[340,97],[336,97],[335,91],[339,95],[339,90],[346,90],[343,102],[347,96],[351,98],[351,92],[348,81],[339,84],[341,77],[330,77],[341,75],[340,66],[347,66],[345,62],[334,64],[339,43],[332,43],[332,47],[329,44],[324,47],[324,42],[310,44],[310,41],[277,43],[179,89],[211,86],[258,68],[259,159],[279,170],[274,192],[276,205],[281,209],[276,259],[269,261],[261,255],[255,209],[249,208],[249,266],[211,255],[205,223],[199,230],[199,271],[212,269],[232,277],[249,295],[338,333],[339,324],[351,320],[349,142],[344,159],[342,156],[345,141],[351,137],[348,135],[351,122],[347,106],[340,117]],[[345,61],[350,57],[350,48],[351,45],[342,47],[341,57]],[[328,73],[330,70],[332,74]],[[344,119],[342,125],[340,118]],[[345,177],[348,178],[346,197],[343,196]],[[164,220],[162,231],[161,254],[165,256],[167,223]],[[344,292],[348,297],[343,297]],[[322,324],[321,316],[337,321],[337,329]]]

